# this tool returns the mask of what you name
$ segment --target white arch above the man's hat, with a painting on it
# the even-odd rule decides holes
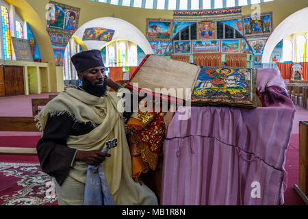
[[[75,31],[75,34],[73,36],[78,36],[82,39],[84,31],[86,30],[86,28],[90,27],[113,29],[114,36],[112,37],[112,40],[129,40],[135,44],[138,44],[138,46],[144,51],[146,55],[153,54],[151,45],[144,36],[144,34],[142,34],[142,32],[137,27],[127,21],[124,21],[120,18],[112,17],[95,18],[91,21],[88,21],[84,25],[81,25],[81,27],[79,27],[77,31]],[[86,44],[88,49],[100,49],[107,42],[97,40],[85,40],[84,43]]]

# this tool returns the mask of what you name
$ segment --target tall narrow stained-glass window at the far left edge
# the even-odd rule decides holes
[[[1,18],[2,18],[4,60],[12,60],[10,17],[8,10],[3,5],[1,5]]]

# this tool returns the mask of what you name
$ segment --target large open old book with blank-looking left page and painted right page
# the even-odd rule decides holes
[[[158,55],[146,55],[127,88],[147,90],[193,106],[259,107],[257,69],[196,66]]]

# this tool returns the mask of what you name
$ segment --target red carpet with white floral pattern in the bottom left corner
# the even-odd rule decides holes
[[[0,205],[57,205],[39,164],[0,163]]]

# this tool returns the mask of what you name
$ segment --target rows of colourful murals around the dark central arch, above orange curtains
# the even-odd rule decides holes
[[[204,16],[219,16],[215,21]],[[200,14],[201,13],[201,14]],[[224,15],[236,14],[237,18],[228,19]],[[189,17],[187,21],[179,17]],[[198,21],[192,21],[192,18]],[[221,20],[220,20],[221,19]],[[238,31],[242,38],[218,38],[218,22],[228,25]],[[196,25],[195,40],[172,40],[186,27]],[[241,8],[233,10],[205,10],[205,11],[175,11],[174,19],[147,18],[146,38],[149,40],[153,53],[156,55],[186,55],[193,53],[253,53],[255,65],[261,64],[261,57],[272,33],[272,12],[260,14],[260,16],[242,16]],[[190,29],[190,31],[193,31]]]

